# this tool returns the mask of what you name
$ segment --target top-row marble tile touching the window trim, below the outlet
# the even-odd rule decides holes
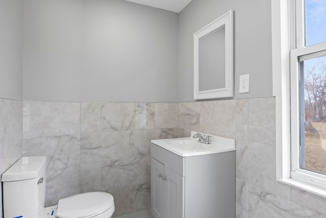
[[[275,98],[249,99],[248,140],[275,145]]]

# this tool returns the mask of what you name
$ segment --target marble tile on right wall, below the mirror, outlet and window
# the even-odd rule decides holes
[[[276,181],[275,98],[179,104],[178,127],[236,140],[236,217],[326,217],[326,200]]]

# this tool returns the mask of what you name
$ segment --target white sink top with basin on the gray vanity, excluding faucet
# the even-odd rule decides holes
[[[197,132],[192,132],[192,136]],[[207,135],[207,134],[205,134]],[[151,140],[153,144],[181,157],[235,151],[235,140],[212,135],[211,144],[204,144],[192,137]]]

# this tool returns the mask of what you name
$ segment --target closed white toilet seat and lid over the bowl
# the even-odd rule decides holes
[[[57,217],[89,218],[114,206],[113,196],[106,192],[87,192],[59,200]]]

